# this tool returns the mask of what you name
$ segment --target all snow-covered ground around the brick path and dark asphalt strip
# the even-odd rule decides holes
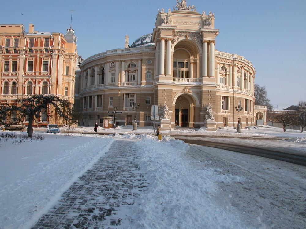
[[[92,130],[91,130],[92,129]],[[75,131],[93,132],[91,127]],[[287,162],[252,155],[193,146],[167,133],[239,136],[248,144],[256,136],[290,138],[276,140],[299,151],[305,149],[305,133],[260,127],[235,133],[219,129],[173,130],[163,141],[152,140],[153,129],[99,128],[107,135],[36,135],[42,141],[12,144],[0,141],[0,228],[29,228],[58,200],[78,177],[103,157],[116,140],[136,142],[137,160],[147,188],[134,205],[118,209],[118,228],[305,228],[306,169]],[[25,134],[23,132],[10,132]],[[119,135],[118,133],[125,133]],[[140,134],[140,135],[135,135]],[[1,134],[1,133],[0,133]],[[155,138],[156,139],[156,138]],[[206,139],[206,138],[205,138]],[[219,138],[211,138],[219,139]],[[222,138],[223,140],[226,138]],[[230,141],[230,138],[228,138]],[[270,143],[269,143],[270,144]],[[118,149],[124,150],[124,149]],[[288,227],[289,226],[289,227]]]

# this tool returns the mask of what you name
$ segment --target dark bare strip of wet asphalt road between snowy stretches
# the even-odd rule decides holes
[[[306,157],[302,155],[296,155],[296,154],[288,154],[281,151],[274,151],[267,149],[267,147],[246,147],[245,145],[239,145],[239,144],[230,144],[230,143],[222,143],[222,142],[214,142],[214,141],[206,141],[206,140],[194,140],[194,139],[187,139],[187,138],[180,138],[177,136],[173,136],[175,139],[179,139],[184,141],[188,144],[196,144],[196,145],[202,145],[202,146],[208,146],[213,148],[219,148],[234,152],[239,152],[243,154],[252,154],[260,157],[265,158],[271,158],[275,160],[285,161],[297,165],[303,165],[306,166]]]

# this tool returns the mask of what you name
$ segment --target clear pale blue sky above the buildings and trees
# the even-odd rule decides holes
[[[33,23],[35,30],[63,34],[70,26],[73,9],[78,53],[87,58],[124,48],[127,33],[130,44],[151,33],[157,10],[172,9],[176,0],[17,0],[13,6],[6,4],[2,4],[6,10],[1,12],[0,24],[24,24],[28,31],[28,24]],[[187,0],[187,4],[195,5],[200,13],[215,13],[215,28],[220,30],[216,49],[250,60],[256,69],[256,83],[266,86],[275,108],[306,100],[305,0]]]

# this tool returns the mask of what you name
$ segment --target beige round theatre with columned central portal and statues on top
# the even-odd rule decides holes
[[[182,3],[185,1],[182,1]],[[181,3],[181,4],[182,4]],[[102,122],[107,111],[123,111],[118,124],[131,125],[136,102],[139,126],[151,125],[151,106],[166,102],[171,127],[201,127],[212,104],[216,124],[254,125],[255,69],[243,56],[215,49],[215,16],[192,7],[158,12],[152,34],[125,49],[107,50],[84,60],[76,73],[80,125]],[[225,22],[224,22],[225,23]]]

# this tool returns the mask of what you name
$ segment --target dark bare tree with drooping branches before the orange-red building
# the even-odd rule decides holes
[[[35,94],[30,95],[26,98],[17,99],[15,104],[2,104],[1,107],[6,107],[2,109],[4,112],[2,116],[8,116],[11,114],[16,114],[14,119],[15,122],[21,121],[25,116],[28,116],[29,125],[28,125],[28,136],[33,136],[33,122],[41,117],[41,112],[47,110],[47,108],[54,110],[55,113],[71,122],[77,123],[73,119],[73,104],[69,100],[61,99],[57,95],[41,95]],[[2,120],[2,118],[1,118]],[[6,118],[8,120],[8,118]],[[3,121],[4,125],[9,125],[7,121]]]

